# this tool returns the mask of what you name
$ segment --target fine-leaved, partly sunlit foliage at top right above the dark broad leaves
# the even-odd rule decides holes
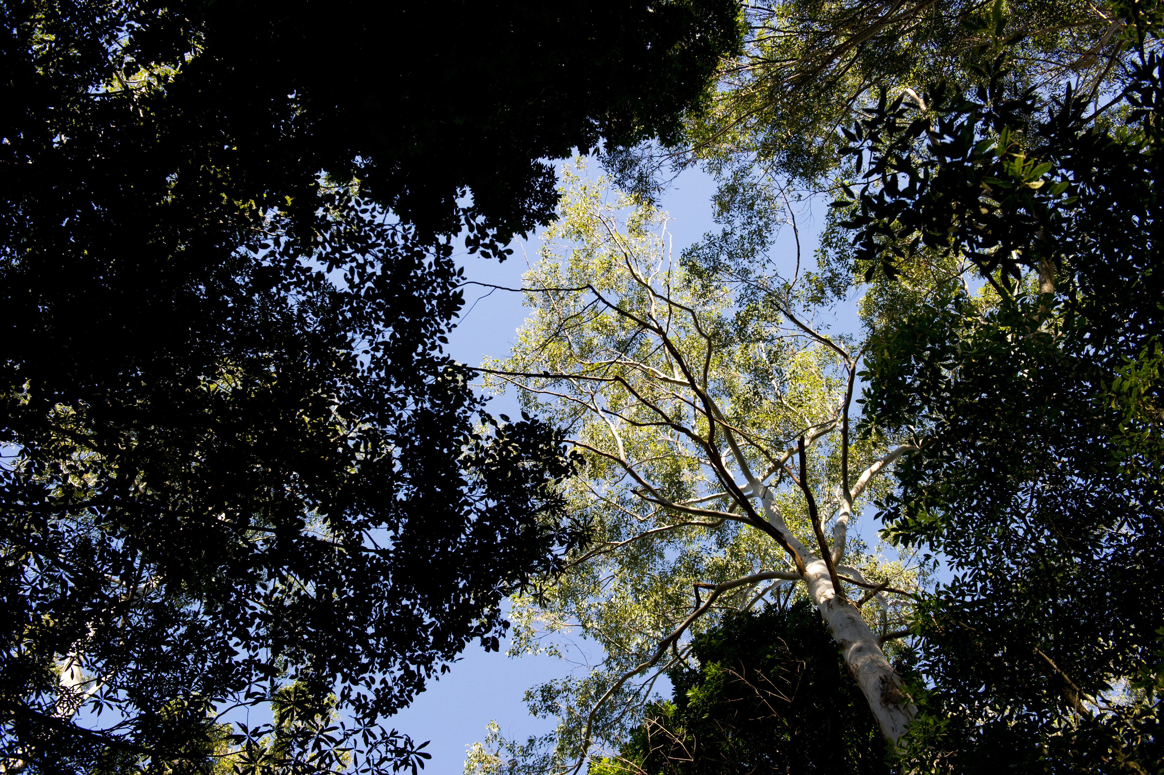
[[[1077,78],[1093,99],[1117,93],[1134,58],[1117,34],[1126,23],[1121,7],[1073,0],[753,3],[745,8],[741,55],[724,63],[709,109],[684,121],[680,142],[608,144],[603,161],[618,185],[644,195],[665,185],[668,168],[698,165],[712,173],[723,232],[704,247],[723,254],[730,268],[741,251],[773,244],[790,202],[833,198],[836,186],[852,179],[851,158],[842,154],[847,140],[837,129],[875,105],[879,88],[896,95],[943,79],[972,90],[988,78],[1005,43],[1016,83],[1055,91]],[[852,290],[847,271],[835,269],[833,298],[822,301]]]

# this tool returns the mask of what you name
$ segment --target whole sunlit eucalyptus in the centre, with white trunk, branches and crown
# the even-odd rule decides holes
[[[576,628],[605,660],[531,692],[534,710],[566,710],[556,748],[517,763],[532,748],[511,745],[513,767],[576,770],[594,739],[617,746],[658,676],[689,659],[690,632],[794,583],[899,740],[914,708],[885,649],[903,634],[918,568],[870,555],[850,525],[916,442],[852,439],[860,346],[801,314],[807,272],[769,265],[733,287],[672,261],[659,211],[569,170],[565,180],[525,279],[531,319],[484,370],[569,431],[584,461],[570,509],[594,538],[517,599],[516,649]],[[480,748],[470,766],[496,755]]]

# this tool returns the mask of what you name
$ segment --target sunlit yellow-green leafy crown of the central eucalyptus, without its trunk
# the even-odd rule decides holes
[[[840,505],[837,426],[849,357],[847,342],[805,330],[809,323],[790,317],[799,313],[796,282],[761,275],[764,262],[747,285],[679,261],[665,213],[590,179],[584,169],[567,168],[562,177],[559,220],[544,233],[540,261],[525,277],[530,318],[510,358],[487,364],[491,386],[517,389],[531,412],[568,428],[585,460],[566,486],[594,543],[573,552],[565,574],[547,580],[537,596],[516,598],[513,607],[513,653],[565,655],[576,637],[604,653],[587,675],[531,692],[532,710],[559,716],[553,735],[533,748],[494,740],[495,751],[539,767],[585,753],[582,728],[596,699],[690,614],[694,584],[790,567],[780,543],[747,521],[729,491],[746,486],[746,477],[726,429],[746,467],[768,485],[783,522],[816,546],[804,496],[779,461],[789,458],[802,434],[814,438],[809,479],[831,517]],[[885,443],[882,436],[854,443],[852,468],[883,454]],[[875,479],[858,509],[883,491]],[[916,567],[872,556],[857,539],[847,546],[843,561],[854,573],[916,583]],[[761,591],[786,604],[803,595],[790,585],[744,586],[690,632],[707,632],[722,611],[758,603]],[[879,628],[900,624],[903,613],[896,604],[888,619],[874,605],[865,611]],[[665,662],[681,663],[686,644]],[[596,708],[599,745],[618,745],[637,723],[651,675]],[[478,753],[481,772],[502,766],[484,748]]]

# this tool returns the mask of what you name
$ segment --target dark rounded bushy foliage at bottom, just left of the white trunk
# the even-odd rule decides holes
[[[887,749],[821,616],[807,603],[738,613],[693,646],[615,759],[591,775],[890,773]]]

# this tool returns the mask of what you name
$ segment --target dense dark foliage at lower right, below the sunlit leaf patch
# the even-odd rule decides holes
[[[1038,312],[1024,299],[984,321],[917,315],[870,364],[871,418],[908,401],[929,435],[900,465],[881,517],[953,571],[914,625],[918,667],[936,685],[925,705],[946,719],[937,731],[953,772],[1074,772],[1084,753],[1107,756],[1084,732],[1112,742],[1126,712],[1098,713],[1088,698],[1135,675],[1164,625],[1161,456],[1121,449],[1106,375],[1050,334],[1031,335]],[[1141,712],[1156,711],[1127,711]],[[1092,717],[1081,731],[1080,714]],[[1156,756],[1149,737],[1141,761]]]

